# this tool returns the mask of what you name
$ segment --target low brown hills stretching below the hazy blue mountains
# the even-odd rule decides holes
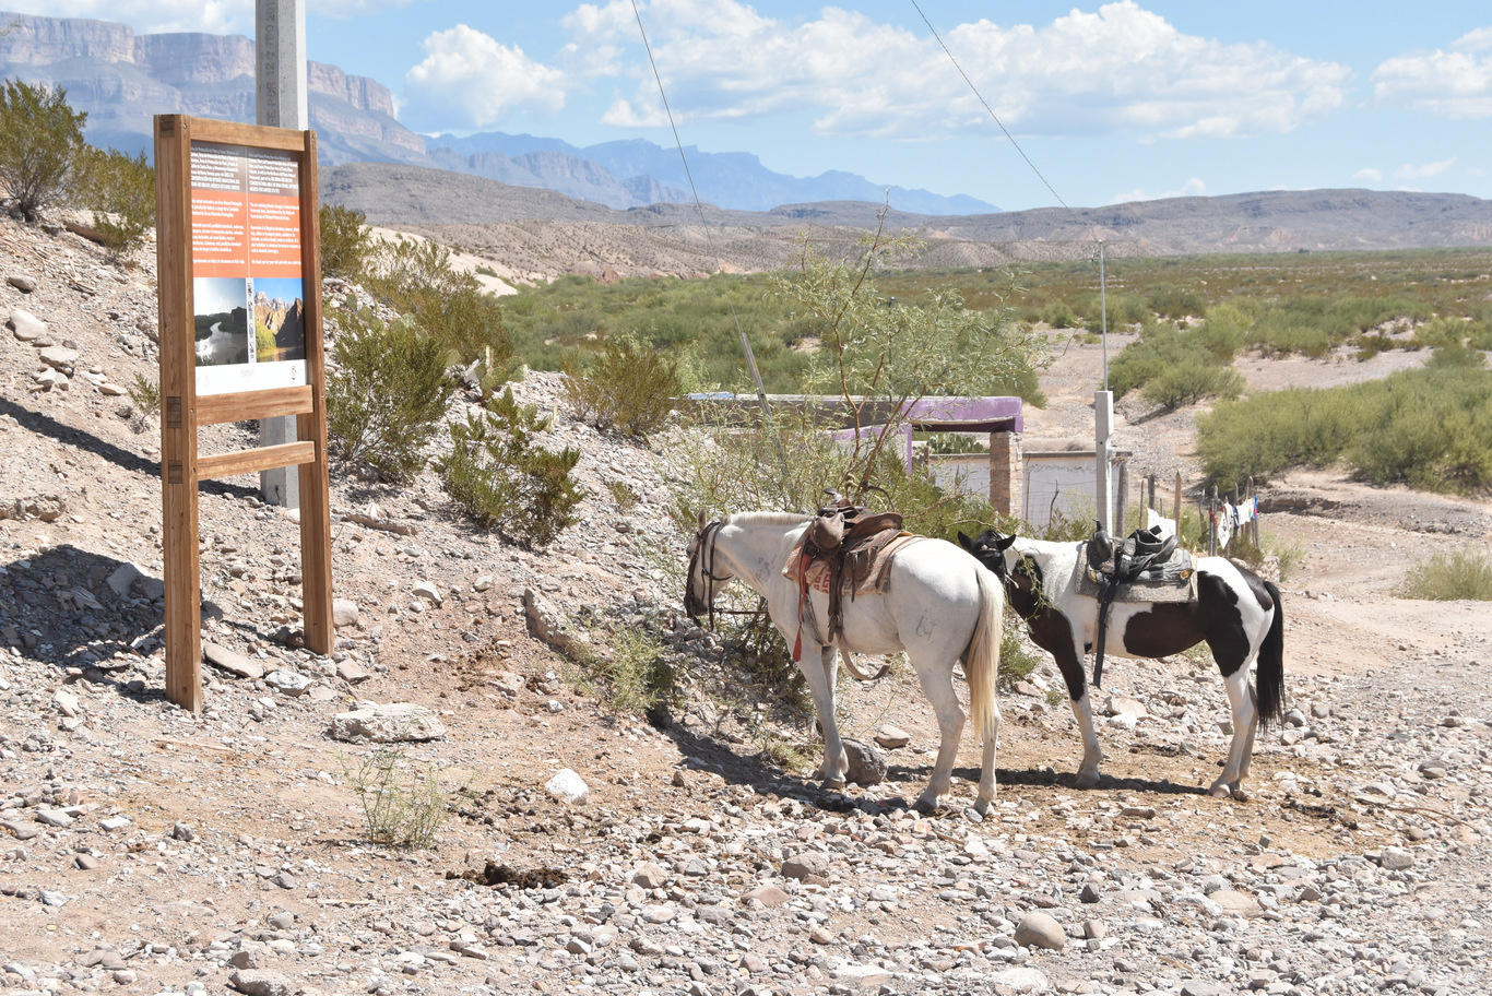
[[[876,224],[867,201],[783,204],[770,212],[700,213],[692,204],[615,210],[555,191],[477,176],[377,163],[322,174],[324,201],[370,222],[468,246],[513,273],[691,276],[767,270],[794,258],[807,231],[828,250],[852,252]],[[1270,191],[1180,197],[1095,209],[967,216],[888,212],[924,250],[907,267],[998,267],[1016,259],[1077,259],[1104,240],[1110,256],[1313,252],[1492,245],[1492,201],[1461,194]]]

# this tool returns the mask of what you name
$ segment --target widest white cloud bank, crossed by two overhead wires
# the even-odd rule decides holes
[[[827,134],[932,139],[998,134],[988,112],[928,34],[840,7],[816,19],[771,19],[737,0],[652,0],[643,9],[674,116],[816,113]],[[579,52],[631,52],[630,107],[656,103],[637,51],[631,0],[582,4],[562,25]],[[1344,101],[1349,70],[1265,43],[1223,45],[1177,31],[1135,0],[1050,24],[961,24],[943,37],[1019,134],[1231,137],[1282,133]],[[615,63],[601,61],[606,70]],[[613,106],[613,112],[621,107]]]

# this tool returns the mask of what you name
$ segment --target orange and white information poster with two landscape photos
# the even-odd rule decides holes
[[[191,143],[197,394],[306,383],[300,164]]]

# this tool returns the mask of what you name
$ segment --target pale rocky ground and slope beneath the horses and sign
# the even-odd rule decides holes
[[[953,804],[924,816],[907,801],[937,729],[913,678],[839,692],[867,784],[779,768],[774,743],[816,759],[812,722],[680,617],[682,437],[601,435],[536,376],[515,392],[555,415],[549,444],[582,450],[582,523],[525,550],[430,476],[337,479],[327,658],[297,647],[294,517],[252,479],[204,485],[206,708],[186,714],[163,696],[158,429],[124,392],[155,373],[154,298],[149,256],[113,267],[66,230],[0,221],[10,990],[1485,989],[1492,607],[1392,590],[1404,550],[1485,546],[1492,505],[1288,483],[1298,514],[1267,528],[1308,550],[1285,583],[1289,714],[1259,734],[1249,799],[1204,795],[1231,717],[1216,669],[1179,656],[1109,664],[1097,789],[1073,786],[1047,664],[1001,699],[989,816],[964,810],[967,743]],[[1097,362],[1083,349],[1067,356]],[[1091,392],[1059,388],[1052,425],[1080,422]],[[252,440],[228,425],[203,444]],[[574,664],[622,632],[655,634],[677,668],[685,704],[656,726]],[[434,844],[372,842],[374,798],[443,817]]]

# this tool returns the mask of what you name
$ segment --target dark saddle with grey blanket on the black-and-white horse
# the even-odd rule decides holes
[[[1077,592],[1098,599],[1094,686],[1103,687],[1110,605],[1115,601],[1194,601],[1197,571],[1192,568],[1192,555],[1177,549],[1176,535],[1161,535],[1159,526],[1135,529],[1122,541],[1110,537],[1103,523],[1097,526],[1094,538],[1083,544]]]

